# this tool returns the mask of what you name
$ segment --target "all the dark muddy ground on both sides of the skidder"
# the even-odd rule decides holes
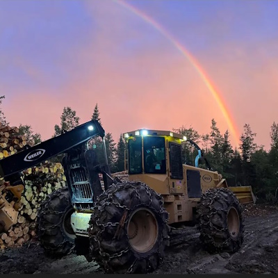
[[[155,274],[239,274],[278,273],[278,207],[245,206],[245,241],[236,254],[208,254],[202,250],[195,227],[171,240],[163,265]],[[0,274],[102,273],[97,263],[88,263],[74,254],[63,259],[44,256],[40,245],[31,242],[21,248],[0,252]]]

